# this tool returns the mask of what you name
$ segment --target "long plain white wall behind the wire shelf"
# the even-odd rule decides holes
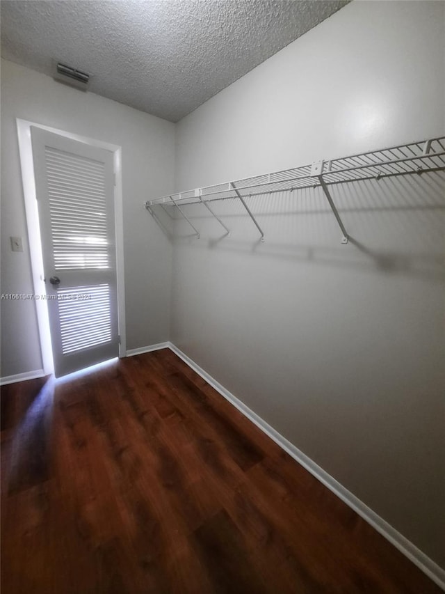
[[[442,2],[353,2],[177,125],[177,190],[437,137]],[[444,175],[194,207],[172,341],[445,565]],[[275,212],[275,214],[274,214]],[[179,226],[179,233],[188,233]]]

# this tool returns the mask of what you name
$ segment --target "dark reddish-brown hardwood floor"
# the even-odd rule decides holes
[[[2,593],[439,593],[170,350],[4,386]]]

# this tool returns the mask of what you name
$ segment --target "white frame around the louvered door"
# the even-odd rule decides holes
[[[33,164],[33,149],[31,145],[31,126],[47,130],[53,134],[79,141],[90,146],[104,148],[113,153],[114,169],[114,212],[115,212],[115,250],[116,250],[116,278],[118,288],[118,334],[120,336],[119,357],[125,357],[127,341],[125,334],[125,283],[124,283],[124,217],[122,203],[122,147],[117,144],[99,141],[72,134],[65,130],[44,126],[28,120],[16,118],[17,136],[19,140],[19,156],[22,169],[22,184],[28,228],[29,251],[31,257],[31,271],[33,276],[34,295],[46,293],[43,274],[42,242],[40,237],[40,223],[37,198],[35,197],[35,177]],[[33,299],[37,314],[40,352],[44,374],[54,373],[51,335],[49,333],[49,315],[46,299]]]

